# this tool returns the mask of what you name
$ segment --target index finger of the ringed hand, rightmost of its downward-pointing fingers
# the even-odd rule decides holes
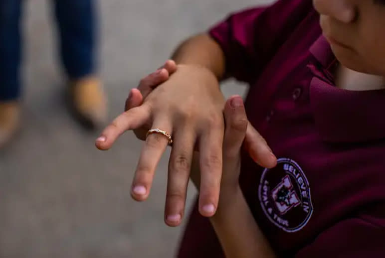
[[[202,216],[215,214],[222,176],[223,117],[212,122],[210,129],[199,138],[200,190],[199,212]]]

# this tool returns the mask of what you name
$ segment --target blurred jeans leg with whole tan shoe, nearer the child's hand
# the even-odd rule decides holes
[[[83,125],[96,128],[107,118],[106,98],[95,75],[96,10],[93,0],[54,0],[60,56],[70,79],[71,104]]]

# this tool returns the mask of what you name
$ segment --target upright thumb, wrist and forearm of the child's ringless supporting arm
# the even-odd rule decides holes
[[[241,146],[246,135],[247,117],[240,96],[230,97],[224,107],[223,171],[218,209],[210,218],[224,255],[276,257],[239,186]],[[192,176],[196,177],[192,171]]]

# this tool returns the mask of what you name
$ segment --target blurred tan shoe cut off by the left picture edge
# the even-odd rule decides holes
[[[20,124],[20,104],[0,102],[0,149],[14,136]]]

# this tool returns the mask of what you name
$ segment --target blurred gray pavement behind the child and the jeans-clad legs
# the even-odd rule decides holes
[[[108,152],[73,121],[55,51],[49,1],[25,1],[23,128],[0,151],[0,258],[168,258],[183,227],[163,223],[168,152],[147,202],[129,191],[141,142],[126,133]],[[101,0],[100,72],[110,119],[139,79],[186,36],[270,0]],[[2,61],[2,60],[1,60]],[[0,82],[1,83],[1,82]],[[226,96],[243,94],[233,82]],[[195,194],[189,191],[189,204]]]

